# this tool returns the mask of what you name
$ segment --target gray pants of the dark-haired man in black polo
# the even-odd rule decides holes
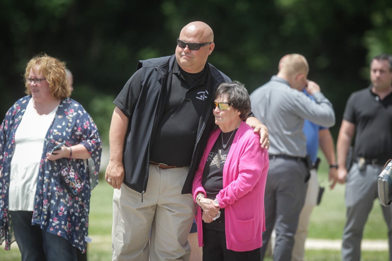
[[[346,180],[346,225],[343,231],[342,260],[359,261],[361,259],[361,240],[369,212],[377,195],[377,178],[383,166],[366,165],[359,170],[358,164],[353,164]],[[384,219],[388,226],[389,260],[391,257],[392,242],[392,206],[382,205]]]

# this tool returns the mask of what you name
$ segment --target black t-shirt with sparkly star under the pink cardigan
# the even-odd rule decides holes
[[[227,154],[234,140],[238,129],[230,132],[221,132],[214,146],[212,147],[203,169],[203,186],[207,198],[214,199],[223,189],[223,165],[226,162]],[[223,148],[225,145],[225,148]],[[225,210],[221,209],[220,217],[211,223],[204,223],[203,226],[209,229],[225,231]]]

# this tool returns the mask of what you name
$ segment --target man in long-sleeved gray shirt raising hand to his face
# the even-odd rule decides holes
[[[316,83],[307,80],[309,66],[305,57],[289,54],[281,61],[278,74],[250,95],[254,115],[270,132],[270,167],[264,197],[266,231],[261,256],[265,255],[275,225],[275,261],[291,260],[299,213],[305,202],[311,163],[306,160],[304,121],[325,127],[335,124],[332,104]],[[304,87],[316,102],[302,92]]]

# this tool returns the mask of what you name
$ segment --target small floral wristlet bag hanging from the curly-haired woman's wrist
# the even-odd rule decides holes
[[[69,148],[69,161],[67,166],[63,167],[60,170],[61,178],[65,182],[65,186],[67,187],[67,191],[76,196],[83,189],[83,182],[80,179],[80,175],[77,170],[72,167],[72,149]]]

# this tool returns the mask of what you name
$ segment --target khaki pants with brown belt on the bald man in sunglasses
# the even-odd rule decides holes
[[[150,164],[147,190],[122,185],[113,194],[113,260],[185,260],[196,204],[181,194],[189,167],[160,169]],[[149,244],[149,232],[151,241]]]

